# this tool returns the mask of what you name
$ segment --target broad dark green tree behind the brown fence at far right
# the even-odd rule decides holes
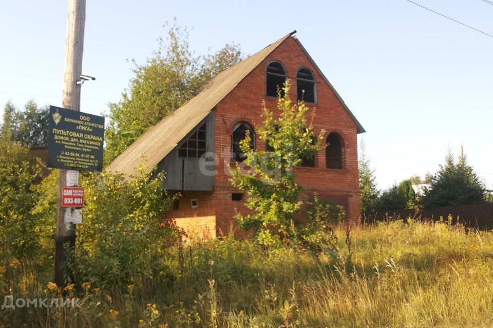
[[[461,149],[459,160],[449,151],[445,165],[435,173],[430,187],[425,188],[421,202],[425,208],[471,204],[485,200],[486,188],[476,172],[467,163]]]

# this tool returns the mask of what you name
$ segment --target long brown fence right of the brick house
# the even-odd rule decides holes
[[[363,222],[371,223],[382,220],[406,219],[408,217],[438,221],[451,215],[453,222],[459,220],[467,227],[476,229],[493,229],[493,203],[479,203],[459,206],[443,206],[432,209],[417,210],[384,210],[373,213],[363,213]]]

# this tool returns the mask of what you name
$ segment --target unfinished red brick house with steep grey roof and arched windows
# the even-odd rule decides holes
[[[226,233],[245,195],[231,186],[228,165],[242,161],[238,144],[261,124],[262,100],[276,111],[276,87],[291,81],[291,99],[316,108],[315,133],[325,130],[327,148],[295,168],[298,182],[359,216],[357,134],[365,130],[299,40],[290,33],[218,74],[172,115],[139,137],[108,167],[131,174],[141,165],[166,172],[163,188],[182,196],[167,213],[178,226],[216,236]],[[302,95],[301,90],[304,90]],[[254,138],[252,147],[264,150]]]

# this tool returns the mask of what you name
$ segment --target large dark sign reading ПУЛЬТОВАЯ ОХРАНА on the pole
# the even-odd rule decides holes
[[[102,171],[104,117],[50,106],[48,167]]]

